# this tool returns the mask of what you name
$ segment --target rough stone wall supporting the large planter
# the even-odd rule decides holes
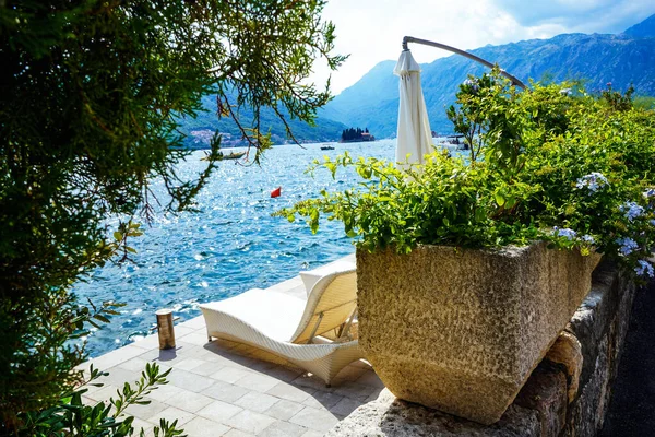
[[[634,286],[608,262],[571,322],[499,422],[485,426],[395,399],[388,390],[327,436],[595,436],[603,426]]]

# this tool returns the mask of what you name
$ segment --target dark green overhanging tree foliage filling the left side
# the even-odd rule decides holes
[[[0,415],[58,402],[80,379],[84,350],[69,340],[106,322],[112,303],[80,305],[70,286],[131,250],[131,218],[152,213],[154,177],[171,211],[193,197],[221,160],[182,179],[180,117],[217,95],[219,117],[240,122],[255,149],[270,145],[259,114],[311,122],[329,87],[307,84],[315,58],[336,68],[324,1],[5,0],[0,2]],[[233,101],[231,97],[236,96]],[[239,120],[250,107],[252,125]],[[290,132],[289,132],[290,133]],[[164,200],[162,200],[164,201]],[[118,229],[107,217],[118,216]],[[111,233],[110,231],[116,231]]]

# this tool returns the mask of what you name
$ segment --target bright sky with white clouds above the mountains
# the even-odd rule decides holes
[[[562,33],[620,33],[655,14],[654,0],[329,0],[323,16],[336,25],[336,52],[350,54],[332,75],[338,94],[382,60],[397,59],[404,35],[462,49]],[[410,46],[418,62],[450,54]],[[315,66],[313,80],[327,69]]]

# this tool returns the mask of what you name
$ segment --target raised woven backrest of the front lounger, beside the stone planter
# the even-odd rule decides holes
[[[344,323],[357,307],[357,273],[355,269],[321,277],[309,293],[307,306],[293,343],[307,343]],[[317,328],[318,324],[318,328]]]

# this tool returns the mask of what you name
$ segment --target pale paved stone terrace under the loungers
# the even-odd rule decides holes
[[[306,293],[299,276],[271,290]],[[165,417],[177,418],[190,437],[318,437],[374,400],[384,387],[365,361],[346,367],[326,388],[322,380],[254,347],[225,340],[209,343],[202,316],[176,324],[175,333],[175,350],[159,351],[154,334],[92,359],[109,376],[104,387],[90,387],[87,400],[116,395],[151,362],[172,371],[168,385],[148,395],[150,404],[128,409],[135,428],[145,428],[146,436]]]

